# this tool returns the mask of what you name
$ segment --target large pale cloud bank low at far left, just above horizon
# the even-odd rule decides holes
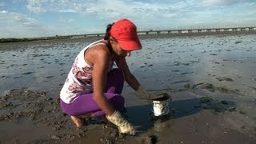
[[[60,17],[58,22],[62,25],[41,25],[25,14],[2,10],[0,11],[0,34],[1,38],[32,38],[86,33],[83,27],[69,25],[74,22],[72,18]]]

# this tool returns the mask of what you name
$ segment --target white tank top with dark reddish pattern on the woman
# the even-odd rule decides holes
[[[94,67],[86,63],[84,54],[87,49],[97,45],[106,45],[106,41],[99,40],[91,43],[81,50],[75,58],[74,64],[60,92],[60,98],[63,102],[72,103],[79,95],[92,93],[92,72]],[[113,65],[114,59],[110,62],[109,71]]]

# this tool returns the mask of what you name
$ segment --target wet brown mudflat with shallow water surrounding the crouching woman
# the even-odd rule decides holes
[[[122,114],[142,134],[126,136],[101,119],[77,130],[58,106],[74,57],[94,39],[0,45],[0,143],[255,143],[255,34],[142,38],[127,58],[152,93],[172,97],[171,113],[125,85]]]

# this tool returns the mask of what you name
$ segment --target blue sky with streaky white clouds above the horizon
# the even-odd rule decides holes
[[[105,33],[120,18],[138,30],[256,26],[256,0],[0,0],[0,38]]]

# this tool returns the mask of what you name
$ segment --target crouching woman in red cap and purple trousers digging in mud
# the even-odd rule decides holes
[[[62,110],[77,127],[82,126],[82,118],[106,116],[120,133],[135,134],[134,127],[118,111],[124,107],[124,81],[140,98],[155,98],[140,86],[126,64],[126,56],[140,49],[136,26],[128,19],[120,19],[107,26],[103,40],[78,54],[60,93]],[[114,62],[116,69],[112,69]]]

